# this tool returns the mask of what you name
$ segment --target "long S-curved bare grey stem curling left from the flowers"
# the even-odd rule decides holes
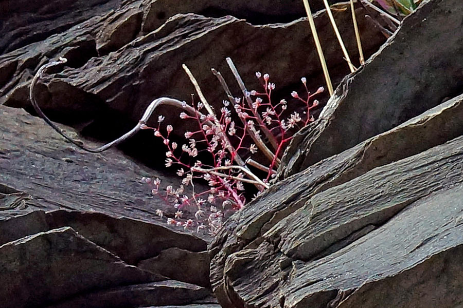
[[[73,143],[74,145],[78,146],[79,148],[81,148],[81,149],[83,149],[83,150],[85,150],[87,152],[99,153],[99,152],[105,151],[105,150],[109,149],[110,147],[118,145],[119,143],[131,138],[132,136],[134,136],[141,129],[142,125],[146,125],[146,123],[148,122],[149,118],[151,117],[151,114],[153,113],[153,111],[160,105],[175,106],[175,107],[178,107],[178,108],[185,109],[189,113],[193,113],[193,114],[194,114],[194,112],[196,112],[194,110],[194,108],[192,108],[191,106],[186,106],[185,107],[184,102],[181,102],[179,100],[175,100],[175,99],[171,99],[171,98],[158,98],[158,99],[151,102],[151,104],[145,110],[145,113],[143,114],[143,117],[141,117],[138,124],[135,125],[135,127],[132,128],[130,131],[128,131],[127,133],[123,134],[121,137],[117,138],[116,140],[114,140],[114,141],[112,141],[110,143],[107,143],[105,145],[102,145],[102,146],[96,147],[96,148],[89,148],[89,147],[85,146],[81,141],[74,140],[73,138],[70,138],[69,136],[67,136],[67,134],[65,134],[58,126],[56,126],[55,123],[51,122],[51,120],[48,119],[48,117],[45,115],[45,113],[43,113],[42,109],[39,107],[39,104],[35,100],[35,93],[34,93],[35,92],[35,85],[37,84],[39,79],[43,78],[43,74],[44,74],[45,70],[47,68],[57,66],[57,65],[60,65],[60,64],[64,64],[66,62],[67,62],[67,60],[65,58],[60,57],[59,61],[53,61],[53,62],[50,62],[50,63],[45,64],[42,67],[40,67],[39,70],[37,71],[37,73],[35,73],[34,78],[32,79],[32,82],[30,84],[29,99],[31,101],[32,107],[34,108],[35,112],[37,112],[37,114],[39,114],[39,116],[51,128],[53,128],[56,132],[58,132],[66,140],[68,140],[69,142]]]

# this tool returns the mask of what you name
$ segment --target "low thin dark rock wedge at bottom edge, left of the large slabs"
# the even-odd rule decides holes
[[[203,287],[165,280],[129,286],[120,286],[89,293],[49,308],[124,308],[143,305],[185,305],[210,295]],[[189,305],[188,305],[189,306]],[[217,305],[216,305],[217,306]],[[198,308],[202,308],[199,306]]]

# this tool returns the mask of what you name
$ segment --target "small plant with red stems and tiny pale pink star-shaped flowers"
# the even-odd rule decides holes
[[[242,98],[233,100],[228,95],[229,100],[222,102],[218,114],[197,87],[201,102],[183,102],[180,118],[194,121],[198,129],[186,131],[183,144],[170,140],[174,129],[172,125],[162,129],[162,115],[158,117],[157,127],[141,127],[153,130],[154,136],[163,140],[166,146],[165,165],[175,166],[176,174],[182,178],[179,187],[169,185],[165,188],[161,187],[158,178],[143,178],[151,186],[153,195],[174,206],[175,215],[167,218],[167,224],[195,228],[198,232],[208,230],[215,234],[227,214],[245,205],[245,185],[255,186],[258,194],[269,187],[269,180],[276,176],[275,169],[284,146],[292,139],[293,129],[314,121],[311,110],[319,103],[313,98],[324,91],[323,87],[310,93],[306,79],[302,78],[306,89],[304,98],[295,91],[291,95],[301,103],[304,111],[302,114],[296,111],[290,113],[286,100],[272,102],[275,84],[270,82],[270,75],[256,72],[256,77],[261,82],[261,91],[243,91]],[[192,75],[190,79],[195,84]],[[258,151],[263,153],[260,161],[253,159]],[[256,173],[263,176],[258,177]],[[207,189],[197,189],[199,185],[195,184],[201,181],[207,183]],[[193,212],[195,219],[184,219],[185,211]],[[156,214],[165,217],[160,209],[156,210]]]

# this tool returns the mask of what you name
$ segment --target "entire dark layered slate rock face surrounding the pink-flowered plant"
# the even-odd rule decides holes
[[[37,99],[52,119],[74,127],[63,126],[72,136],[118,137],[153,99],[189,98],[193,88],[182,63],[216,105],[224,95],[210,67],[239,95],[226,56],[245,80],[255,70],[269,72],[277,97],[299,90],[293,87],[304,75],[316,89],[323,79],[301,2],[0,0],[0,8],[0,278],[6,282],[0,302],[6,307],[218,308],[211,291],[223,307],[463,302],[457,0],[423,1],[346,78],[326,13],[314,15],[334,84],[345,79],[320,119],[293,140],[282,181],[231,217],[209,251],[209,236],[161,221],[157,208],[167,217],[174,209],[138,181],[158,176],[175,185],[174,177],[117,149],[90,154],[69,146],[18,108],[31,111],[32,75],[60,55],[68,62],[38,84]],[[384,36],[371,27],[369,12],[356,11],[369,56]],[[333,13],[357,63],[348,6]],[[257,88],[255,81],[246,84]],[[185,129],[177,113],[159,112]],[[152,141],[140,134],[126,148],[163,165],[165,155]]]

